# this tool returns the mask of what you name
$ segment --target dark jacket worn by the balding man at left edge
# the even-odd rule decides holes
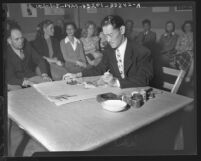
[[[32,69],[33,64],[39,66],[41,73],[48,73],[45,60],[37,54],[27,41],[24,44],[24,55],[24,59],[21,60],[11,46],[7,45],[6,75],[8,84],[22,85],[24,78],[35,76],[35,71]]]

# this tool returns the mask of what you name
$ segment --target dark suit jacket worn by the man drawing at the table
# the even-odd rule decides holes
[[[125,78],[122,79],[115,56],[115,51],[108,45],[103,59],[94,68],[84,70],[83,76],[102,75],[110,69],[110,73],[119,79],[121,88],[147,86],[153,77],[152,57],[149,49],[131,41],[127,41],[124,56]]]

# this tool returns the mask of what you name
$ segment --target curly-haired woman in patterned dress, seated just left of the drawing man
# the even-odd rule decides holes
[[[97,36],[97,28],[94,22],[88,21],[85,24],[80,40],[83,43],[89,67],[98,65],[102,60],[102,54],[99,51],[99,37]]]

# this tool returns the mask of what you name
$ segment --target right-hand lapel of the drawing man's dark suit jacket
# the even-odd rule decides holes
[[[124,56],[124,72],[127,73],[129,67],[132,64],[132,48],[129,41],[127,41],[126,51]]]

